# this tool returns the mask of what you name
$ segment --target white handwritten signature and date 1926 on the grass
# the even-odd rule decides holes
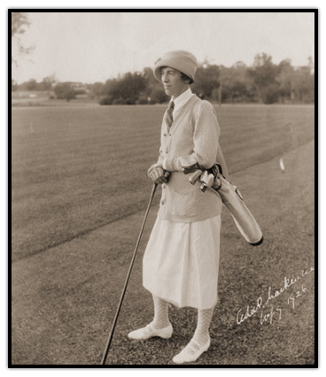
[[[282,295],[283,292],[286,291],[287,289],[289,289],[293,284],[297,283],[302,278],[307,276],[307,274],[312,273],[313,271],[314,271],[314,267],[311,266],[309,270],[302,270],[301,276],[298,275],[297,277],[292,278],[292,279],[289,279],[285,276],[283,285],[280,289],[276,289],[276,290],[273,291],[272,287],[269,287],[268,288],[268,299],[265,302],[265,304],[263,304],[263,299],[260,296],[257,299],[256,304],[252,308],[250,308],[249,305],[247,306],[245,313],[242,312],[242,309],[238,310],[238,312],[237,312],[237,324],[240,325],[240,323],[244,322],[245,319],[252,317],[256,312],[259,312],[259,311],[261,311],[261,313],[260,313],[260,324],[263,324],[264,322],[266,322],[268,320],[270,321],[270,323],[272,323],[273,317],[276,314],[276,312],[278,313],[278,319],[281,319],[282,308],[280,308],[278,305],[275,307],[272,304],[270,312],[268,312],[266,314],[264,314],[263,309],[265,308],[265,306],[267,306],[269,304],[269,302],[272,302],[272,300],[274,300],[276,297]],[[288,301],[288,304],[290,304],[290,302],[291,302],[292,309],[294,309],[295,299],[298,298],[299,296],[302,296],[302,292],[304,293],[306,291],[307,291],[307,288],[304,288],[304,286],[302,285],[301,286],[301,293],[299,291],[297,291],[295,294],[291,294],[289,296],[287,301]]]

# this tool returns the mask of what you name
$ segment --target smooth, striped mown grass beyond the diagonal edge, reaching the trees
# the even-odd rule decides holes
[[[229,172],[314,138],[314,106],[215,106]],[[12,108],[12,260],[146,206],[164,106]],[[159,201],[159,194],[154,204]]]

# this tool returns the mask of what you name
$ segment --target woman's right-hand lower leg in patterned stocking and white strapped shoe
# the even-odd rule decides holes
[[[213,317],[213,310],[214,308],[198,309],[198,321],[195,334],[188,345],[173,358],[176,364],[196,361],[203,352],[208,350],[211,344],[209,326]]]

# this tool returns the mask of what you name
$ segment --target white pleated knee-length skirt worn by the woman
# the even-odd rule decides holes
[[[192,223],[156,219],[143,258],[143,284],[181,308],[217,304],[221,216]]]

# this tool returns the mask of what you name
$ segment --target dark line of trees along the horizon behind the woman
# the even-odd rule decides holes
[[[88,96],[99,104],[162,104],[168,101],[149,67],[142,72],[125,73],[105,82],[85,84]],[[314,64],[295,67],[285,59],[278,65],[265,53],[256,55],[251,66],[237,62],[231,67],[204,62],[198,66],[193,93],[209,101],[225,103],[312,104],[314,103]],[[72,83],[45,78],[30,80],[12,90],[53,90],[58,98],[73,99],[78,90]]]

